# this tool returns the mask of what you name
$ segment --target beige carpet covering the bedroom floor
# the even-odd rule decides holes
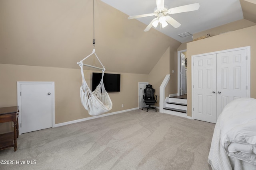
[[[15,162],[0,169],[209,170],[214,125],[154,110],[128,111],[22,134],[16,152],[0,150],[0,160]]]

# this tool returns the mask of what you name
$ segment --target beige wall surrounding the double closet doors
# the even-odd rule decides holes
[[[251,97],[256,98],[256,26],[251,26],[236,31],[216,35],[206,39],[187,43],[188,59],[188,116],[191,116],[191,56],[238,47],[251,46]]]

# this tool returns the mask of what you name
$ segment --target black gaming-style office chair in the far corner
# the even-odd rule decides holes
[[[143,108],[147,108],[148,109],[156,109],[156,107],[151,107],[151,105],[155,105],[156,100],[157,100],[157,96],[155,99],[155,89],[152,88],[151,84],[147,84],[146,88],[144,89],[144,95],[143,95],[143,102],[148,105],[148,107],[142,107]]]

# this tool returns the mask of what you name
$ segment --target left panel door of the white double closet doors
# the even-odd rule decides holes
[[[194,119],[216,123],[216,54],[194,57]]]

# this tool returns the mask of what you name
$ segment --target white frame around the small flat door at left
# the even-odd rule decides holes
[[[21,92],[21,85],[22,84],[52,84],[52,127],[55,127],[55,91],[54,91],[54,82],[17,82],[17,106],[21,105],[21,96],[20,96],[20,92]],[[20,112],[19,112],[19,117],[18,117],[18,121],[19,121],[19,128],[20,127],[20,123],[21,123],[21,109],[19,108]],[[19,135],[21,135],[21,130],[19,131]]]

